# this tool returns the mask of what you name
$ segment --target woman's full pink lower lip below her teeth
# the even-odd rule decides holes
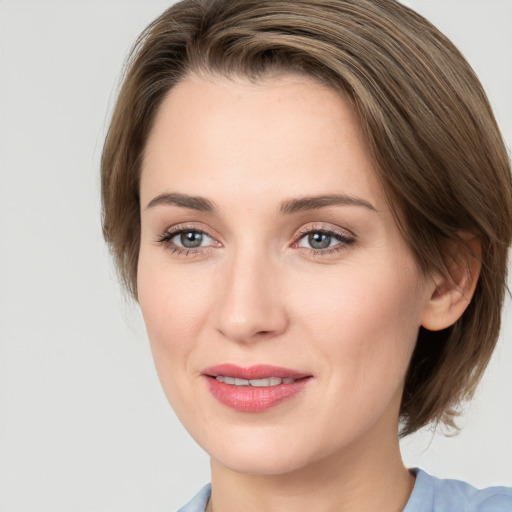
[[[311,377],[306,377],[277,386],[252,387],[225,384],[213,377],[205,378],[210,393],[220,403],[243,412],[261,412],[271,409],[300,393],[311,380]]]

